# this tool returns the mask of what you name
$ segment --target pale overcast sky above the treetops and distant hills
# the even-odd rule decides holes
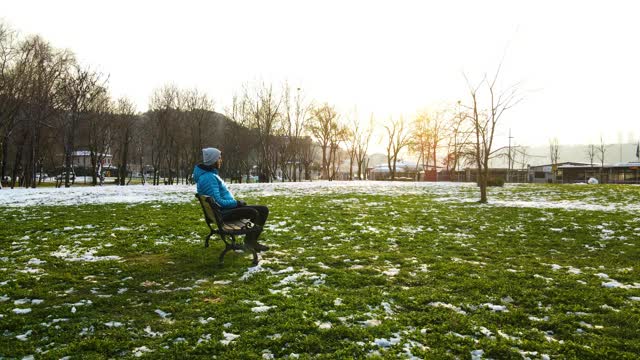
[[[224,112],[245,82],[288,81],[342,112],[411,118],[468,100],[503,60],[524,101],[498,142],[638,141],[640,6],[634,1],[5,1],[0,19],[108,73],[146,110],[173,82]]]

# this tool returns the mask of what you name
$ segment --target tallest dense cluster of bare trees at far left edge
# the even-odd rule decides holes
[[[70,167],[79,122],[88,114],[92,120],[105,115],[105,83],[71,52],[54,49],[39,36],[20,40],[0,24],[0,176],[11,172],[14,185],[20,173],[22,185],[35,187],[36,174],[56,146]],[[97,144],[93,138],[89,142]],[[12,169],[7,168],[10,148]]]

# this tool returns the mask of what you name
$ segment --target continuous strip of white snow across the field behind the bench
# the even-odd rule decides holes
[[[193,200],[195,189],[193,185],[3,189],[0,190],[0,206],[190,202]],[[442,202],[473,202],[479,197],[475,184],[451,182],[316,181],[229,184],[229,189],[238,198],[328,194],[428,195]],[[580,197],[580,200],[558,200],[562,198],[561,189],[561,187],[508,184],[504,188],[489,189],[489,205],[591,211],[640,211],[639,202],[627,201],[628,199],[612,202],[604,195],[598,196],[597,191],[594,191],[597,189],[595,187],[585,186],[585,196]]]

